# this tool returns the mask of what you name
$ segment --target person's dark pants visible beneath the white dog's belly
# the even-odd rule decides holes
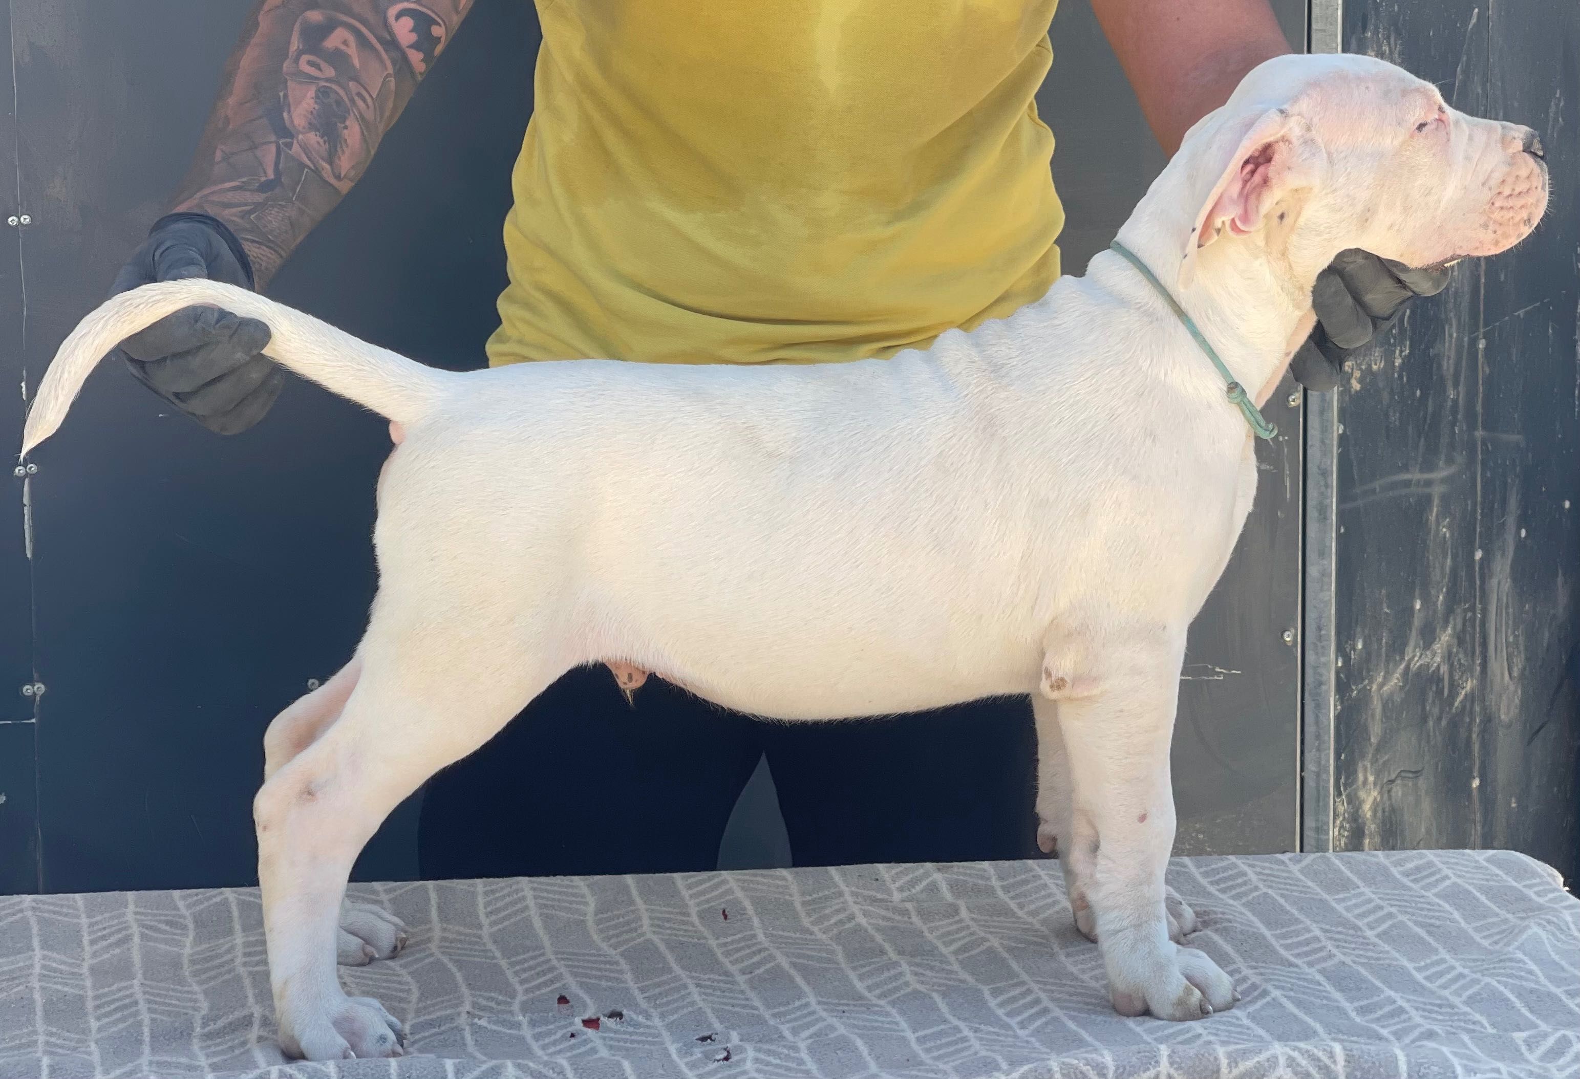
[[[1025,698],[901,719],[769,724],[649,678],[626,705],[574,670],[428,780],[428,880],[713,869],[762,755],[798,866],[1036,856]]]

